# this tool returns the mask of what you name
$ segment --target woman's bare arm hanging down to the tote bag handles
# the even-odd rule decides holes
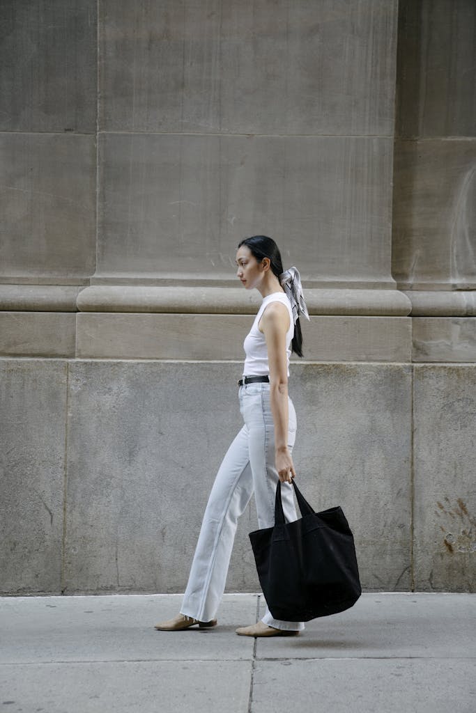
[[[259,324],[265,335],[270,369],[270,405],[275,436],[275,465],[281,482],[295,477],[293,458],[288,448],[288,359],[286,332],[289,312],[284,304],[271,302]]]

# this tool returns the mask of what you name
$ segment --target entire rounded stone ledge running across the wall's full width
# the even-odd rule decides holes
[[[476,317],[476,289],[309,287],[310,314]],[[226,284],[0,284],[4,312],[253,314],[258,292]]]

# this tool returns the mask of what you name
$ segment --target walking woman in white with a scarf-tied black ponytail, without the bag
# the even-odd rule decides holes
[[[258,289],[263,302],[244,342],[243,379],[238,381],[244,426],[228,448],[208,499],[181,612],[156,629],[181,631],[198,624],[216,625],[225,590],[236,524],[255,493],[259,528],[274,524],[278,478],[286,520],[296,519],[291,479],[291,451],[296,419],[288,397],[291,347],[303,356],[298,315],[305,307],[299,273],[283,272],[274,240],[255,235],[242,240],[236,253],[238,277],[245,289]],[[267,609],[257,624],[241,627],[241,636],[296,635],[302,622],[275,620]]]

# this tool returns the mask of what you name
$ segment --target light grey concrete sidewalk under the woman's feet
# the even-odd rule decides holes
[[[476,595],[366,594],[299,637],[157,632],[179,595],[0,598],[0,712],[475,713]]]

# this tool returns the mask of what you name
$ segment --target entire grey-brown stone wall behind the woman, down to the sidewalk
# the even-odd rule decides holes
[[[310,308],[305,493],[343,506],[365,588],[472,590],[474,4],[0,13],[0,591],[183,590],[258,232]],[[230,590],[258,588],[253,528]]]

